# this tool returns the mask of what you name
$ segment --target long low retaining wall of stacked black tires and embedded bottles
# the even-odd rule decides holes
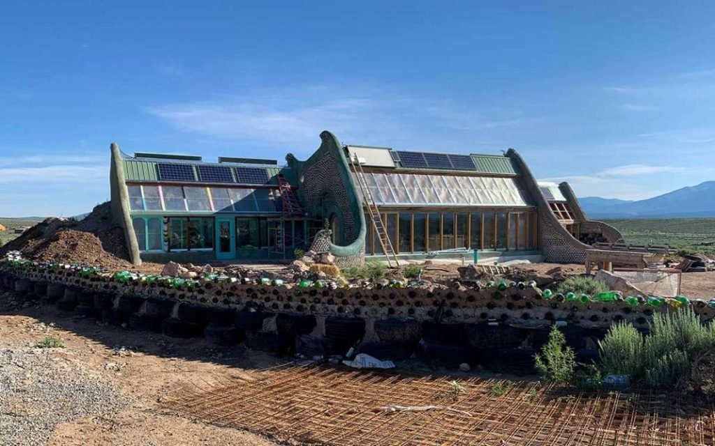
[[[345,353],[361,339],[360,350],[378,358],[418,353],[450,367],[483,363],[523,373],[533,371],[528,358],[546,343],[554,320],[567,321],[562,330],[568,343],[590,358],[596,340],[614,321],[628,320],[645,331],[654,312],[673,310],[668,305],[559,303],[531,288],[509,288],[495,296],[495,288],[330,290],[206,281],[180,290],[119,283],[110,275],[86,278],[74,270],[11,265],[0,265],[0,287],[68,315],[177,338],[204,336],[217,345],[244,342],[257,350],[312,357]],[[703,320],[715,317],[709,307],[694,309]],[[443,318],[435,323],[438,313]],[[505,364],[513,367],[501,369]]]

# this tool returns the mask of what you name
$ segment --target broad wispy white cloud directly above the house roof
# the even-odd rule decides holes
[[[476,110],[454,101],[418,98],[375,86],[261,88],[213,101],[149,106],[147,113],[180,131],[230,141],[305,147],[322,130],[355,143],[465,143],[503,128],[533,125],[517,113]],[[445,134],[448,141],[445,141]]]

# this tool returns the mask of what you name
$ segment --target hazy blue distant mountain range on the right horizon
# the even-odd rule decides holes
[[[715,181],[706,181],[646,200],[586,197],[578,201],[586,215],[593,219],[715,217]]]

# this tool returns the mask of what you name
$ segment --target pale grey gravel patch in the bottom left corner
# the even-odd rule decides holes
[[[63,351],[0,348],[0,445],[43,445],[61,422],[111,414],[131,402]]]

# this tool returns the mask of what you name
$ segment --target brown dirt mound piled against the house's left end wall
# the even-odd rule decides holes
[[[103,203],[81,221],[47,218],[0,248],[0,255],[19,250],[32,260],[126,269],[132,264],[124,240],[124,230],[112,221],[109,203]]]

